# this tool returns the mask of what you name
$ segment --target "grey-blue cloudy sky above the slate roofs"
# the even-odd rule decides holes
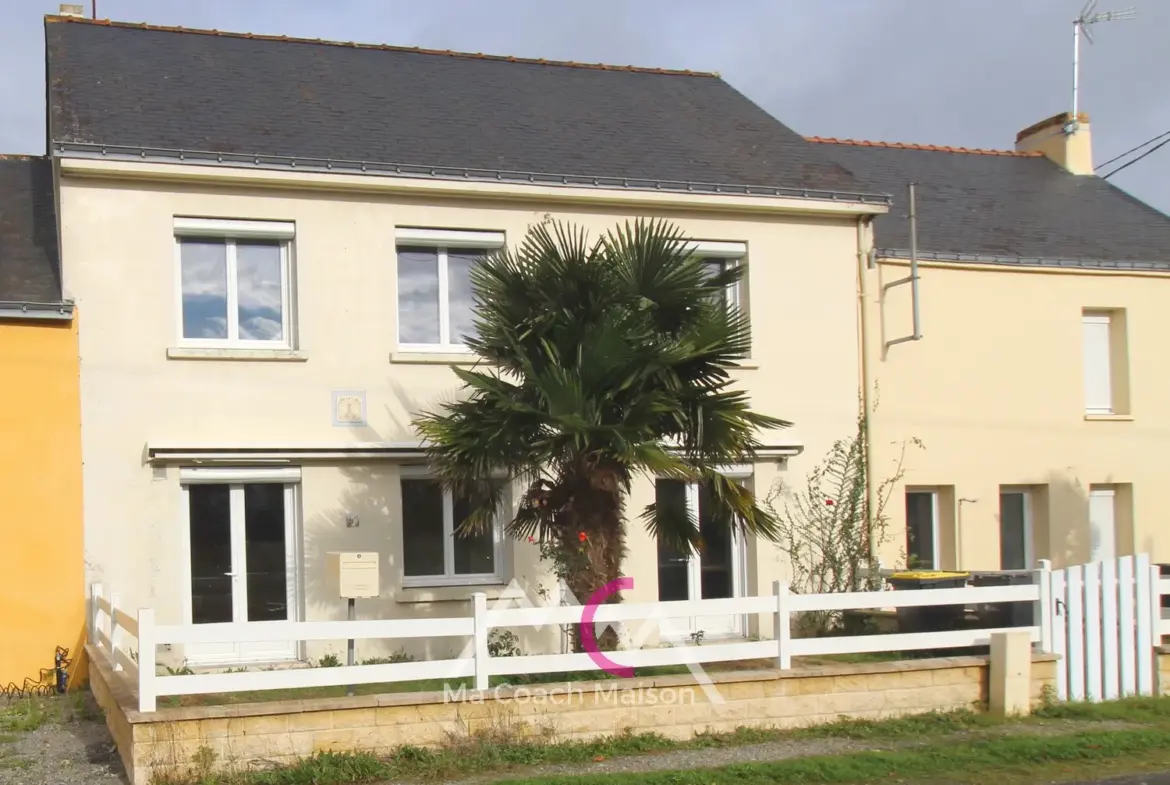
[[[1071,109],[1085,0],[96,1],[121,21],[717,71],[806,136],[1010,149]],[[0,0],[0,152],[44,151],[41,18],[57,5]],[[1097,164],[1170,131],[1170,0],[1097,11],[1129,6],[1081,48]],[[1170,213],[1170,145],[1110,181]]]

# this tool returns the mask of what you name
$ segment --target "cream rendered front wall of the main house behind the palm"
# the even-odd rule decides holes
[[[328,183],[321,175],[315,185]],[[181,494],[178,471],[153,471],[147,442],[344,442],[415,439],[411,419],[456,393],[442,364],[392,361],[395,350],[394,226],[491,229],[517,242],[546,215],[594,234],[635,215],[676,221],[690,236],[743,241],[749,248],[751,367],[741,381],[757,408],[793,420],[785,439],[804,455],[786,471],[803,476],[853,424],[858,391],[855,219],[680,208],[571,207],[323,191],[245,190],[223,184],[62,180],[64,287],[85,314],[81,325],[87,574],[116,586],[131,604],[181,617]],[[709,199],[709,198],[708,198]],[[729,201],[729,204],[731,204]],[[176,345],[176,215],[296,222],[298,349],[304,361],[168,359]],[[331,393],[366,391],[369,427],[332,425]],[[782,469],[757,467],[766,494]],[[653,500],[640,483],[631,516]],[[399,517],[393,463],[315,463],[303,468],[301,519],[308,618],[337,618],[319,555],[384,553],[384,599],[363,614],[466,613],[470,590],[398,587]],[[347,511],[362,525],[346,529]],[[537,579],[535,549],[517,544],[512,574]],[[752,588],[780,577],[777,551],[750,546]],[[653,542],[634,524],[626,573],[632,599],[658,595]],[[414,600],[414,601],[406,601]],[[421,601],[442,600],[442,601]]]

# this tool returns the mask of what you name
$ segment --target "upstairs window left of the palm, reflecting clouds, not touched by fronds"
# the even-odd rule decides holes
[[[174,219],[179,339],[187,346],[292,346],[294,225]]]

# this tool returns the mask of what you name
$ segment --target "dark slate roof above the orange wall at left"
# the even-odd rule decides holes
[[[0,302],[60,303],[53,164],[0,156]]]

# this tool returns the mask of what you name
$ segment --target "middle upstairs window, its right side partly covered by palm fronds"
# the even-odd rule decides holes
[[[503,233],[399,228],[397,240],[399,349],[467,351],[472,268],[504,245]]]

